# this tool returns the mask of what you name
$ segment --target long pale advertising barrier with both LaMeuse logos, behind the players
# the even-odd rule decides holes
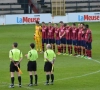
[[[100,12],[84,12],[84,13],[66,13],[66,16],[55,16],[51,14],[16,14],[16,15],[0,15],[0,25],[10,24],[34,24],[35,21],[58,23],[71,22],[99,22]]]

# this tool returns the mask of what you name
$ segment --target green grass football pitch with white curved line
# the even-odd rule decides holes
[[[55,62],[54,85],[45,86],[43,53],[37,60],[38,86],[28,87],[29,75],[27,72],[26,57],[21,62],[22,87],[18,87],[15,74],[14,90],[100,90],[100,23],[88,23],[92,30],[92,60],[57,55]],[[0,90],[10,90],[10,72],[8,57],[13,42],[18,42],[18,48],[23,56],[30,50],[29,44],[34,42],[34,25],[8,25],[0,26]]]

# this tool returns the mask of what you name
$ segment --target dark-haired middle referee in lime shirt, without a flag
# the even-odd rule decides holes
[[[27,57],[28,64],[27,64],[27,71],[29,72],[30,75],[30,84],[28,86],[33,86],[33,72],[34,72],[34,76],[35,76],[35,84],[34,86],[37,86],[37,63],[36,60],[38,58],[38,53],[37,51],[34,49],[35,48],[35,44],[31,43],[30,44],[30,48],[31,50],[28,52],[28,54],[26,54],[25,56]]]

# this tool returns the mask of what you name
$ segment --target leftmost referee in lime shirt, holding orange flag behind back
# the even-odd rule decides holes
[[[14,72],[17,72],[19,87],[21,87],[21,75],[18,72],[18,67],[20,68],[20,62],[22,61],[23,55],[22,52],[17,49],[18,43],[13,43],[13,49],[9,51],[10,58],[10,73],[11,73],[11,85],[10,88],[14,88]]]

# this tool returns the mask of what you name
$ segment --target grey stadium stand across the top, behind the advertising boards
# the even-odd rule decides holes
[[[32,11],[33,13],[52,13],[56,8],[56,5],[52,3],[54,1],[60,0],[0,0],[0,14],[26,14],[32,13]],[[100,11],[100,0],[64,1],[66,13]],[[60,8],[59,6],[61,6],[60,3],[57,4],[58,8]]]

